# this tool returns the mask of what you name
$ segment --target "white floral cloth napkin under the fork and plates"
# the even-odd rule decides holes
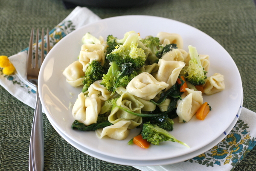
[[[76,7],[50,31],[51,46],[75,29],[100,18],[85,7]],[[35,87],[26,80],[27,49],[9,57],[16,68],[14,75],[0,74],[0,84],[18,100],[35,107]],[[230,171],[256,145],[256,113],[242,107],[236,126],[227,137],[204,154],[184,162],[161,166],[134,166],[141,171]]]

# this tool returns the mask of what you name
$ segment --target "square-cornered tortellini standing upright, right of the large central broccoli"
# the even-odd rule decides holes
[[[177,81],[180,71],[185,66],[181,61],[166,61],[159,59],[159,70],[155,75],[157,81],[163,81],[168,84],[166,90],[169,90]]]

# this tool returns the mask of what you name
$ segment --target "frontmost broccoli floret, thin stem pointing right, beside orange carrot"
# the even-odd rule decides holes
[[[163,141],[172,141],[172,142],[178,142],[182,145],[189,147],[184,142],[177,140],[167,130],[160,128],[155,124],[151,124],[150,122],[143,124],[141,134],[143,139],[146,139],[148,142],[154,145],[159,145],[159,143]]]

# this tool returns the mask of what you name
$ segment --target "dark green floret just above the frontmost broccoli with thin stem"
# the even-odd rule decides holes
[[[164,130],[172,131],[174,121],[168,117],[167,114],[161,116],[154,116],[154,117],[146,117],[143,118],[143,122],[150,122],[151,124],[155,124]]]

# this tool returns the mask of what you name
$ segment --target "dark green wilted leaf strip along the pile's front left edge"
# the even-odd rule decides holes
[[[71,128],[82,130],[82,131],[90,131],[90,130],[97,130],[99,128],[105,128],[110,125],[113,125],[113,124],[110,123],[109,121],[105,121],[105,122],[100,122],[100,123],[91,124],[91,125],[86,126],[83,123],[79,122],[78,120],[75,120],[73,122],[73,124],[71,125]]]

